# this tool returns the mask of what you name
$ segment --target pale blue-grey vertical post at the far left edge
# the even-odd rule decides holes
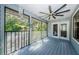
[[[1,9],[1,11],[0,11],[0,33],[1,33],[1,35],[0,35],[0,42],[1,42],[1,48],[0,48],[0,50],[1,50],[1,52],[0,52],[0,54],[5,54],[5,40],[4,40],[4,5],[0,5],[0,9]]]

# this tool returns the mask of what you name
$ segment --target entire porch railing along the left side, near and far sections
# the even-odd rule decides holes
[[[29,44],[28,40],[30,40],[30,43],[33,43],[45,38],[46,36],[46,31],[33,31],[31,36],[32,39],[29,39],[29,31],[5,31],[5,54],[10,54],[27,46]]]

